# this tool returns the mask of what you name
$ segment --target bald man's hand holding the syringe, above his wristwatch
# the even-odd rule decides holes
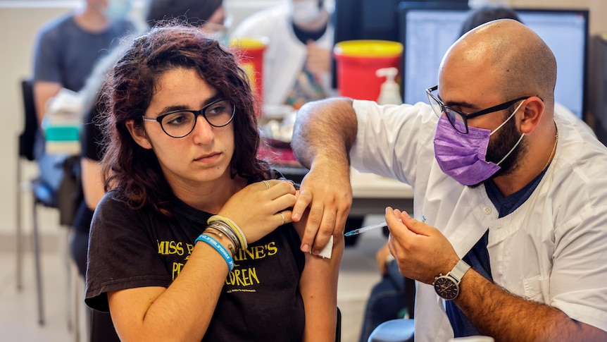
[[[411,218],[406,212],[388,207],[386,222],[390,252],[403,276],[433,283],[435,276],[449,272],[460,259],[437,228]]]

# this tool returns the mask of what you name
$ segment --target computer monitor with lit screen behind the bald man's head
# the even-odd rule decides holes
[[[427,102],[425,89],[437,84],[442,57],[461,31],[468,11],[399,5],[403,29],[403,101]],[[522,23],[537,32],[556,56],[555,100],[584,118],[586,102],[588,11],[515,9]],[[473,81],[473,79],[471,80]]]

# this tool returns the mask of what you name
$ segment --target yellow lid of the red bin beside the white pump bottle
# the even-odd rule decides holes
[[[395,57],[403,54],[403,44],[389,40],[346,40],[335,44],[334,54],[351,57]]]

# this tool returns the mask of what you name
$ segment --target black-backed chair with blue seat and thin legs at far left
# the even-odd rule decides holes
[[[38,226],[37,207],[54,208],[59,210],[60,224],[62,226],[71,226],[75,213],[75,202],[80,193],[79,178],[79,157],[69,157],[63,163],[64,177],[57,191],[54,191],[48,184],[39,178],[29,181],[23,181],[22,161],[35,161],[34,145],[35,135],[38,130],[38,121],[36,117],[36,108],[34,102],[33,82],[32,80],[21,81],[21,91],[23,94],[24,109],[24,128],[18,137],[18,158],[17,158],[17,198],[16,198],[16,261],[17,261],[17,288],[23,288],[23,221],[22,212],[22,193],[24,190],[32,192],[32,248],[34,250],[35,260],[35,279],[37,293],[38,323],[44,325],[44,296],[42,293],[42,266],[40,258],[40,233]],[[68,267],[68,277],[70,277],[70,267]],[[70,279],[70,278],[68,278]],[[68,293],[70,281],[68,281]],[[68,315],[70,312],[68,310]],[[68,317],[68,329],[71,330],[72,320]]]

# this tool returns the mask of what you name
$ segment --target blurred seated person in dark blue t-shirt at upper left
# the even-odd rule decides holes
[[[131,0],[87,0],[76,11],[46,23],[37,35],[34,51],[33,90],[38,123],[45,107],[61,88],[77,92],[94,65],[118,44],[119,37],[136,30],[127,18]],[[46,154],[44,134],[37,133],[35,158],[39,175],[55,192],[61,179],[65,154]]]

